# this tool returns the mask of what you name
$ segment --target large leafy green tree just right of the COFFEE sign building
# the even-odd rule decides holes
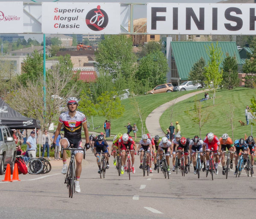
[[[132,38],[125,35],[106,35],[95,53],[96,68],[109,72],[113,79],[131,78],[135,72],[136,57],[132,52]]]

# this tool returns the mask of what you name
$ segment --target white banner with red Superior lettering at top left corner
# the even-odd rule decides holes
[[[23,33],[23,2],[0,2],[0,33]]]

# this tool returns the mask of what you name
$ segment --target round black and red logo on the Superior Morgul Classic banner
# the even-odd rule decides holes
[[[108,14],[98,5],[87,13],[85,20],[91,30],[100,31],[108,25]]]

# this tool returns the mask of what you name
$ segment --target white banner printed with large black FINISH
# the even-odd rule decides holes
[[[148,3],[147,33],[256,35],[256,4]]]

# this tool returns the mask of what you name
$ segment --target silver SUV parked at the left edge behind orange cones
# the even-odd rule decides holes
[[[3,175],[7,164],[10,164],[11,174],[13,174],[16,160],[16,144],[12,131],[9,127],[0,126],[0,175]]]

